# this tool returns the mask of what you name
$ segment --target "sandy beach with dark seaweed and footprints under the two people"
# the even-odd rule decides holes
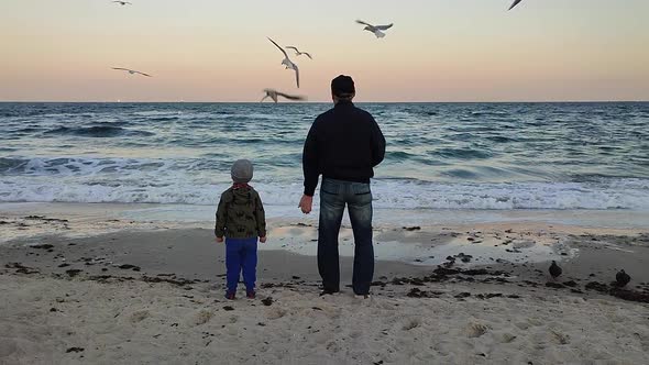
[[[209,229],[96,218],[110,230],[80,235],[75,215],[0,215],[13,237],[0,245],[0,364],[639,364],[649,352],[642,230],[383,225],[359,299],[320,297],[316,228],[275,220],[257,299],[229,301]],[[395,244],[400,259],[382,259]],[[351,258],[341,267],[349,285]]]

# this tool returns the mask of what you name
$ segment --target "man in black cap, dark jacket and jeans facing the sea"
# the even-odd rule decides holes
[[[334,107],[316,119],[305,142],[305,192],[299,208],[305,214],[311,211],[321,174],[318,270],[322,294],[340,291],[338,234],[346,204],[355,245],[352,287],[366,298],[374,276],[370,178],[385,156],[385,139],[374,118],[354,107],[354,96],[351,77],[341,75],[331,81]]]

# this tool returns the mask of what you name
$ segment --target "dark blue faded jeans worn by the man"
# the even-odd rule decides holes
[[[370,292],[372,277],[374,276],[372,191],[370,184],[322,179],[320,188],[320,225],[318,229],[318,270],[322,277],[324,290],[340,290],[338,234],[345,206],[354,232],[352,287],[356,295],[366,295]]]

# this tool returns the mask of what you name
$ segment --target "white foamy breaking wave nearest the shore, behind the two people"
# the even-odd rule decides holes
[[[113,202],[199,204],[217,203],[227,185],[170,184],[53,184],[0,181],[3,202]],[[266,204],[294,206],[300,184],[254,184]],[[373,184],[376,209],[630,209],[649,210],[648,180],[605,184],[439,184],[413,180],[377,180]]]

